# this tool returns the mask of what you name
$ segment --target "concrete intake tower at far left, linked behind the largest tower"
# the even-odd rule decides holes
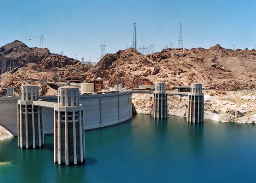
[[[45,144],[42,123],[42,108],[35,106],[37,101],[38,86],[21,86],[21,99],[18,100],[18,146],[21,148],[36,148]]]

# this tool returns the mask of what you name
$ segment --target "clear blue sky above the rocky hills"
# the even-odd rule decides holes
[[[88,61],[132,44],[178,47],[182,23],[184,48],[248,49],[256,45],[255,0],[0,0],[0,46],[18,39],[51,53]],[[31,39],[31,40],[29,40]]]

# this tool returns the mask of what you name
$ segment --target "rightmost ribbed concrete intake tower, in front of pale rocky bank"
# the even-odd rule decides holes
[[[188,122],[204,123],[204,93],[202,84],[191,84],[188,94]]]

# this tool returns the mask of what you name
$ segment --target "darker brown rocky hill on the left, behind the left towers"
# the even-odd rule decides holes
[[[0,95],[6,95],[6,87],[13,86],[19,95],[20,86],[28,80],[40,86],[40,95],[50,89],[46,81],[56,81],[67,75],[83,73],[89,65],[63,55],[52,55],[47,48],[29,48],[20,41],[8,43],[0,48],[0,57],[26,59],[26,65],[15,73],[0,75]]]

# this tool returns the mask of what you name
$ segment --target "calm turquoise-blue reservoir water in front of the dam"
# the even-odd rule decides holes
[[[0,141],[0,183],[254,183],[256,125],[136,115],[85,131],[86,164],[53,162],[53,135],[42,149]]]

